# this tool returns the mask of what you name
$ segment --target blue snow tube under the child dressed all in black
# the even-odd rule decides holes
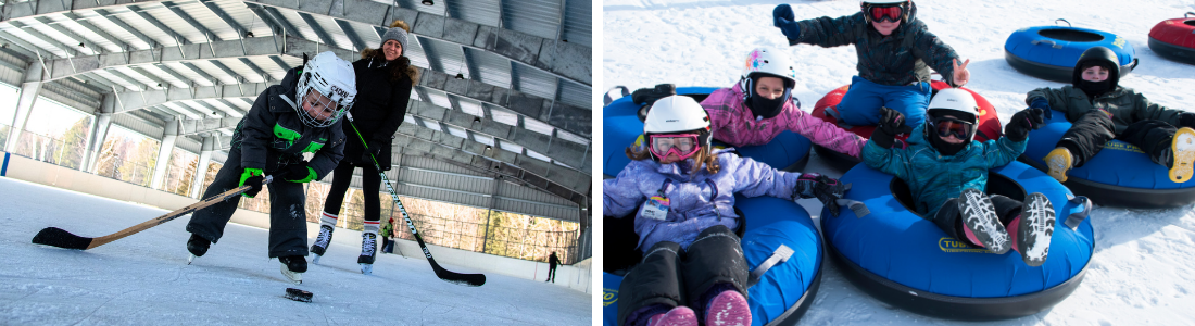
[[[1041,129],[1029,131],[1029,146],[1018,160],[1041,171],[1044,158],[1055,148],[1062,134],[1071,129],[1066,115],[1054,111]],[[1071,168],[1066,186],[1101,205],[1126,208],[1172,208],[1195,202],[1195,182],[1176,184],[1170,170],[1150,160],[1136,146],[1119,140],[1081,167]]]

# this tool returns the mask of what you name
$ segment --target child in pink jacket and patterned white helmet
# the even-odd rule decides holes
[[[797,80],[790,62],[779,51],[754,49],[747,55],[739,84],[713,91],[701,102],[717,140],[736,147],[765,144],[791,130],[819,146],[858,158],[868,139],[801,110],[799,100],[792,97]]]

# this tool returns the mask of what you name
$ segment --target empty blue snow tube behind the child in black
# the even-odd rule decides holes
[[[1124,38],[1105,31],[1071,26],[1017,30],[1004,42],[1004,59],[1012,68],[1027,75],[1070,84],[1074,63],[1091,47],[1104,47],[1116,53],[1121,78],[1136,67],[1136,51]]]

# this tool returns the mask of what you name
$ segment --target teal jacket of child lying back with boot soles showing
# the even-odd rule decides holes
[[[1009,137],[972,141],[955,155],[942,155],[924,136],[925,124],[913,129],[907,148],[883,148],[869,140],[863,146],[863,162],[896,176],[908,184],[917,213],[932,216],[942,203],[962,195],[963,189],[987,187],[987,171],[1012,162],[1025,152],[1028,139]]]

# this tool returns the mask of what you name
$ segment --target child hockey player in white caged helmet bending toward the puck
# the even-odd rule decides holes
[[[282,275],[295,283],[307,271],[307,197],[304,183],[318,180],[343,158],[341,117],[357,94],[353,66],[332,53],[321,53],[302,67],[287,72],[280,85],[257,96],[249,113],[237,124],[228,160],[216,173],[203,197],[250,185],[245,197],[262,191],[264,176],[270,187],[270,258],[282,263]],[[312,153],[310,161],[305,153]],[[228,199],[201,209],[186,223],[191,239],[186,250],[195,257],[220,241],[238,201]]]

